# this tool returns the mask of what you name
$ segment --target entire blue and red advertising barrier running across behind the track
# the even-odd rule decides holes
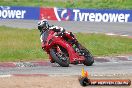
[[[132,22],[132,10],[0,6],[0,19]]]

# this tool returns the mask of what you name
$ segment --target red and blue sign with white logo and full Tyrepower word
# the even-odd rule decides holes
[[[41,8],[41,19],[58,21],[132,22],[132,10]],[[47,11],[46,11],[47,10]],[[47,13],[50,14],[47,14]]]

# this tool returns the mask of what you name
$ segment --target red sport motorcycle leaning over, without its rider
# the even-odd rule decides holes
[[[55,32],[49,30],[49,35],[45,42],[45,51],[49,54],[52,63],[58,63],[62,67],[69,64],[84,64],[91,66],[94,63],[92,54],[78,43],[80,48],[62,35],[55,36]]]

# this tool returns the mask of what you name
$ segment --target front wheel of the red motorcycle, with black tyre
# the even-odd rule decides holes
[[[53,60],[58,63],[62,67],[69,67],[69,56],[66,49],[64,49],[61,46],[57,46],[60,48],[61,53],[57,51],[57,48],[51,48],[50,49],[50,55],[53,58]]]

